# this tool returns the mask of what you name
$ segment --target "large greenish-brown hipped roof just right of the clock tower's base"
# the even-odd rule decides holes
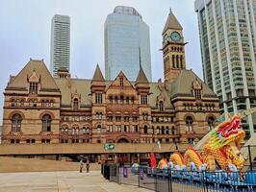
[[[198,81],[202,84],[203,95],[217,97],[215,92],[207,84],[204,84],[192,70],[188,69],[182,70],[177,79],[170,84],[171,97],[177,94],[192,94],[192,83],[194,81]]]

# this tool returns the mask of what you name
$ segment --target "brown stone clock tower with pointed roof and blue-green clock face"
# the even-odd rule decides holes
[[[183,28],[171,9],[162,36],[165,80],[172,82],[186,68],[186,43],[184,42]]]

